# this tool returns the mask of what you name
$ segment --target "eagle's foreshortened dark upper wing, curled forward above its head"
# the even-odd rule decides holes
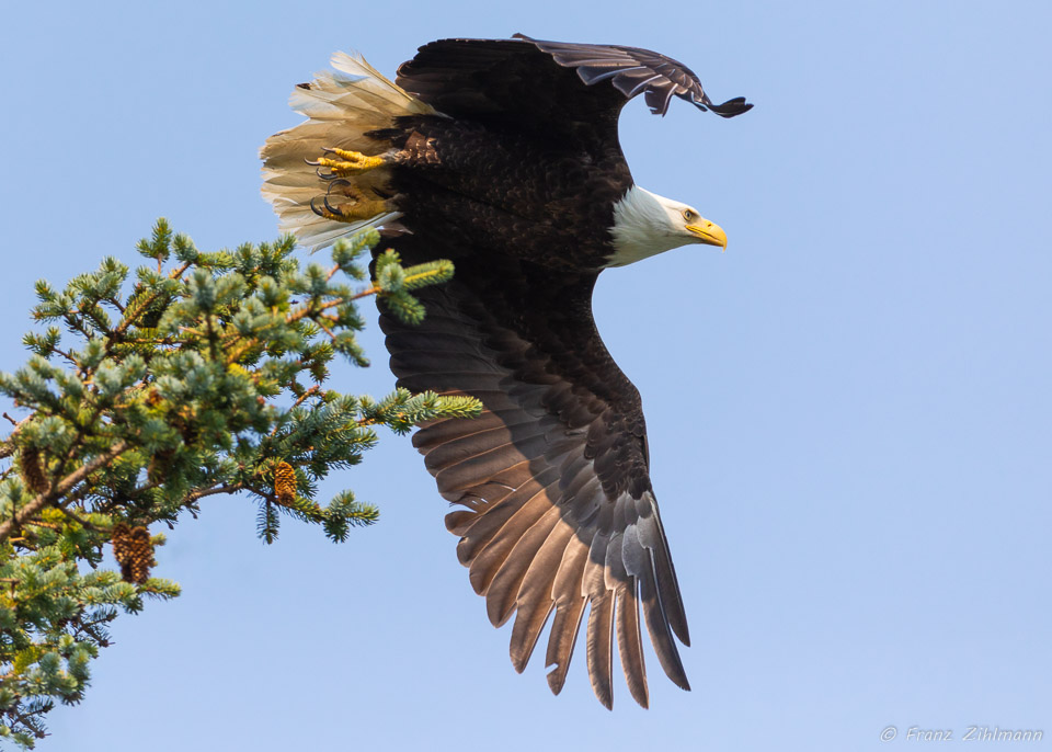
[[[723,117],[753,106],[743,98],[713,104],[694,71],[649,49],[515,36],[426,44],[398,69],[398,84],[447,115],[570,132],[602,124],[615,138],[621,106],[644,92],[662,115],[673,95]]]

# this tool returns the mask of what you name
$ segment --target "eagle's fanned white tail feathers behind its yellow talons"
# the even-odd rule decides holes
[[[327,185],[306,160],[317,160],[324,148],[371,153],[376,141],[366,132],[390,127],[401,115],[436,115],[424,104],[357,55],[332,56],[335,71],[317,75],[309,88],[297,87],[289,104],[309,119],[266,139],[260,149],[263,160],[263,197],[281,219],[281,229],[317,251],[339,238],[373,225],[380,227],[398,219],[398,212],[385,210],[355,223],[325,219],[313,213],[312,198],[324,195]],[[347,178],[364,196],[375,196],[389,179],[386,167]]]

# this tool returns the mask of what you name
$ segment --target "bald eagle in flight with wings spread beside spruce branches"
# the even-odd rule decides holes
[[[713,104],[689,68],[647,49],[523,35],[432,42],[397,83],[359,57],[332,64],[293,93],[309,119],[263,147],[263,195],[306,246],[373,225],[405,263],[454,261],[450,283],[419,294],[423,324],[382,307],[380,324],[399,386],[484,406],[478,419],[426,425],[413,444],[460,505],[446,526],[490,620],[515,615],[515,670],[550,618],[558,694],[588,606],[596,696],[613,706],[616,641],[645,707],[642,606],[662,669],[688,690],[673,638],[689,645],[687,620],[640,397],[596,331],[592,290],[608,266],[727,246],[694,207],[636,185],[621,107],[638,94],[662,115],[673,96],[723,117],[752,105]]]

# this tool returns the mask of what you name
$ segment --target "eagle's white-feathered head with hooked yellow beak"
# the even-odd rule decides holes
[[[614,254],[607,266],[624,266],[687,243],[727,248],[727,233],[695,209],[639,185],[614,204]]]

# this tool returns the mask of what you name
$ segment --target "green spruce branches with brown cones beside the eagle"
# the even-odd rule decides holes
[[[32,748],[56,702],[83,697],[117,614],[179,594],[153,576],[158,523],[239,493],[267,543],[282,513],[345,540],[378,512],[351,491],[321,504],[317,483],[358,464],[375,426],[478,414],[466,397],[325,388],[338,354],[367,365],[356,300],[419,321],[412,290],[453,274],[387,251],[366,282],[359,258],[378,241],[368,230],[304,267],[290,238],[206,253],[160,220],[134,273],[107,258],[62,290],[37,283],[48,328],[25,337],[23,368],[0,374],[21,419],[4,413],[0,443],[0,737]],[[111,547],[121,571],[101,567]]]

